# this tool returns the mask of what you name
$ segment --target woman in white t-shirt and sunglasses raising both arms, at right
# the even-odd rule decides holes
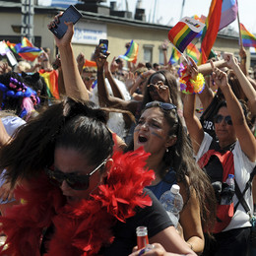
[[[216,68],[213,62],[211,62],[211,65],[214,82],[222,90],[225,98],[225,102],[217,108],[217,115],[214,118],[215,132],[219,140],[218,152],[222,154],[226,151],[231,152],[234,164],[234,180],[240,191],[243,191],[256,164],[256,141],[247,125],[245,111],[228,84],[226,74]],[[195,63],[193,63],[193,66],[195,68]],[[202,156],[210,152],[211,145],[216,142],[213,137],[204,132],[200,121],[195,116],[194,100],[195,95],[186,96],[184,117],[196,160],[200,160]],[[223,163],[224,168],[225,164],[227,163]],[[206,166],[206,171],[208,171],[212,182],[219,173],[218,165],[215,164],[213,167],[213,171],[209,172]],[[252,213],[253,203],[250,189],[246,191],[244,200]],[[233,205],[236,206],[237,203],[238,199],[234,194]],[[213,234],[215,240],[207,242],[203,255],[247,255],[250,226],[249,215],[245,212],[243,206],[238,204],[230,223],[227,223],[222,231]]]

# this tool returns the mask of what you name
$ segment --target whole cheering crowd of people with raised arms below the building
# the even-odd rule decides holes
[[[174,67],[164,42],[163,65],[124,68],[96,46],[94,69],[74,55],[67,26],[53,63],[45,49],[34,66],[1,64],[0,255],[249,255],[256,80],[244,48],[241,62],[224,53]],[[53,68],[58,100],[36,72]],[[173,184],[178,229],[160,204]],[[148,228],[148,250],[137,226]]]

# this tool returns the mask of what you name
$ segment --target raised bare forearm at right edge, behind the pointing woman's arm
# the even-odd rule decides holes
[[[224,53],[224,60],[237,77],[243,93],[248,98],[248,106],[253,114],[256,114],[256,91],[238,65],[237,59],[232,53]]]

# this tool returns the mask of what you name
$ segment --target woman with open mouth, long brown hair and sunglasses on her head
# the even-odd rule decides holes
[[[204,249],[203,228],[213,225],[215,202],[208,177],[198,167],[186,131],[172,103],[152,101],[146,104],[134,130],[128,151],[143,147],[150,157],[147,166],[156,179],[149,188],[158,199],[172,184],[180,186],[184,206],[180,224],[184,239],[196,253]]]

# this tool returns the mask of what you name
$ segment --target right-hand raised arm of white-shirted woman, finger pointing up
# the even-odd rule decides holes
[[[256,160],[256,140],[246,123],[242,107],[228,84],[226,74],[216,68],[213,62],[211,62],[211,65],[213,67],[214,81],[224,94],[227,110],[231,116],[235,135],[241,145],[241,149],[249,160],[254,161]]]

